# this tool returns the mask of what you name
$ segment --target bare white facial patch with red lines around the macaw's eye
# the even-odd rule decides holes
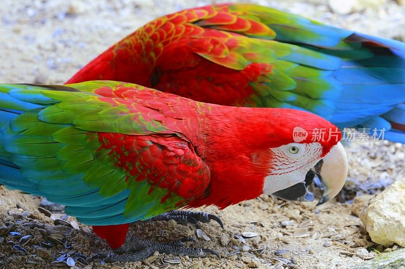
[[[273,161],[263,187],[267,195],[303,182],[307,172],[319,161],[322,146],[318,142],[290,143],[270,151]]]

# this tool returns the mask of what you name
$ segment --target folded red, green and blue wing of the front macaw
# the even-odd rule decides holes
[[[209,168],[159,113],[105,97],[133,90],[145,102],[157,91],[113,82],[55,89],[0,85],[1,183],[65,204],[89,225],[145,220],[206,190]]]

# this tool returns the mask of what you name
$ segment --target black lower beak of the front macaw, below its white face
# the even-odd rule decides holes
[[[315,173],[312,170],[309,170],[305,176],[304,182],[300,182],[286,189],[276,191],[271,195],[288,201],[312,202],[315,199],[315,196],[308,190],[308,187],[312,184],[314,177]]]

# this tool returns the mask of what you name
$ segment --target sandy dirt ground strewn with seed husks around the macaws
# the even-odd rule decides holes
[[[212,2],[2,0],[0,82],[63,83],[109,45],[147,21]],[[367,7],[365,10],[344,16],[331,12],[326,2],[321,0],[252,2],[368,34],[405,38],[405,7],[394,1],[361,1]],[[378,192],[405,171],[405,147],[401,144],[357,141],[347,147],[347,152],[350,169],[346,192],[340,196],[342,200],[351,200],[356,193],[366,193],[369,189]],[[38,197],[0,186],[0,268],[53,268],[58,264],[51,262],[68,251],[72,256],[76,252],[90,257],[109,250],[107,244],[87,226],[79,224],[76,227],[79,230],[55,226],[51,218],[37,210],[38,203]],[[361,221],[352,216],[351,209],[349,202],[333,201],[315,207],[315,202],[276,203],[269,197],[245,201],[222,211],[214,207],[204,208],[218,214],[225,229],[220,229],[216,223],[202,224],[201,228],[210,241],[197,238],[189,245],[215,249],[221,254],[221,259],[186,256],[181,258],[180,264],[173,264],[170,268],[355,267],[374,255],[374,252],[365,254],[364,248],[369,248],[369,251],[372,248],[384,249],[370,241]],[[52,217],[55,216],[58,217],[55,214]],[[12,224],[14,227],[10,231],[21,235],[4,234]],[[243,232],[254,232],[258,236],[242,242],[237,235]],[[196,237],[194,226],[186,227],[173,222],[134,224],[130,233],[158,241]],[[51,248],[46,248],[44,244],[38,247],[43,241],[49,241],[51,234],[61,235],[61,241],[67,240],[67,243],[54,244]],[[18,242],[25,235],[32,235],[30,241],[23,245],[26,252],[14,249],[15,243],[10,241]],[[241,253],[229,255],[238,249]],[[126,268],[157,268],[163,257],[160,254],[152,263],[120,265]],[[76,266],[89,269],[112,268],[114,265],[93,262],[85,266],[76,262]]]

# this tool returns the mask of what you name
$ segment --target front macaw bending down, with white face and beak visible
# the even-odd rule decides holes
[[[297,127],[306,136],[297,139]],[[113,248],[129,223],[282,192],[309,171],[325,202],[347,175],[340,139],[335,125],[299,110],[209,104],[113,81],[0,84],[0,183],[66,205]]]

